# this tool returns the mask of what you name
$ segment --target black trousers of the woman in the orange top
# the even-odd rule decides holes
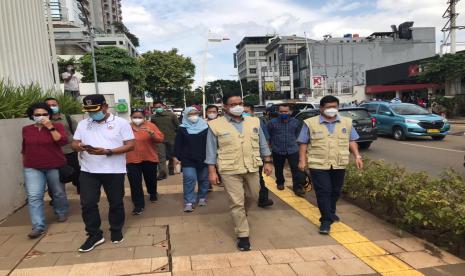
[[[157,163],[143,161],[141,163],[126,164],[128,170],[129,185],[131,187],[131,199],[134,207],[145,208],[144,190],[142,189],[142,177],[144,178],[147,193],[157,193]]]

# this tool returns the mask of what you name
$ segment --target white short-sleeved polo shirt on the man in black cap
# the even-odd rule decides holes
[[[79,122],[74,140],[96,148],[114,149],[134,140],[131,125],[113,114],[104,123],[85,119]],[[126,154],[112,156],[81,153],[81,171],[88,173],[126,173]]]

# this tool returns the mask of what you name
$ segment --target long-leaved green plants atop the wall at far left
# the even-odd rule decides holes
[[[48,97],[58,100],[64,114],[81,113],[81,103],[61,92],[43,91],[37,84],[13,86],[10,82],[0,81],[0,119],[27,117],[29,105]]]

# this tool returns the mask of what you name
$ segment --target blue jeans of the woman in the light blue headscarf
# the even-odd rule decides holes
[[[195,204],[195,184],[199,183],[198,197],[207,198],[208,193],[208,167],[182,167],[184,204]]]

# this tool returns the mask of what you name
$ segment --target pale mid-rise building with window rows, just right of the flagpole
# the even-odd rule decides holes
[[[247,36],[237,44],[234,64],[241,80],[258,80],[257,64],[265,62],[266,46],[273,36]]]

